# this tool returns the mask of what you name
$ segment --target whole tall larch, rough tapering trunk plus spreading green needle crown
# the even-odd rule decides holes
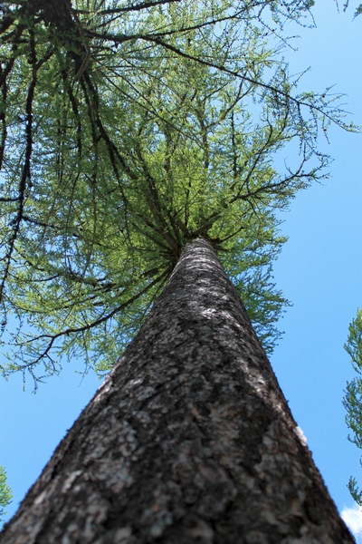
[[[352,541],[236,296],[271,351],[275,210],[353,130],[279,54],[312,5],[2,3],[2,372],[108,371],[153,307],[2,541]]]

